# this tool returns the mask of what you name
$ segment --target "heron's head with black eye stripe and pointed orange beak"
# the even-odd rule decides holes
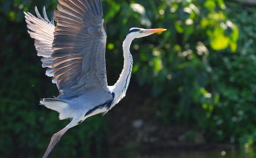
[[[148,35],[152,35],[154,33],[166,31],[166,29],[143,29],[143,28],[131,28],[127,37],[132,37],[133,39],[146,37]]]

